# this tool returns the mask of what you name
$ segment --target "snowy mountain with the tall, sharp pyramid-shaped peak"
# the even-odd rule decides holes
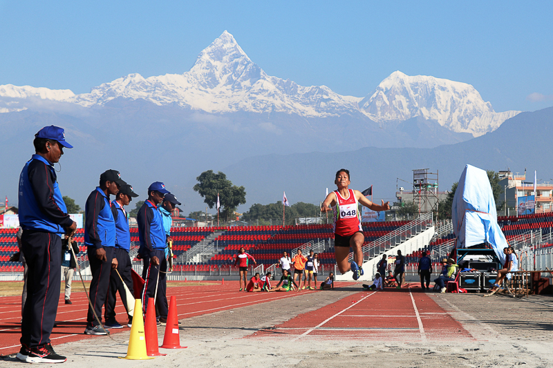
[[[357,97],[341,96],[326,86],[303,87],[267,75],[223,32],[183,74],[144,78],[131,74],[71,99],[82,106],[102,105],[116,97],[178,104],[207,113],[293,113],[337,116],[357,110]]]

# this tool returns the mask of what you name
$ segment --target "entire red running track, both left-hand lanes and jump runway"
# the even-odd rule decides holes
[[[339,282],[340,287],[349,287],[353,282]],[[169,287],[167,297],[177,298],[178,318],[189,318],[226,309],[247,307],[292,296],[318,293],[244,293],[238,292],[238,282],[214,283],[195,287]],[[53,345],[88,338],[86,336],[86,310],[88,302],[83,292],[73,293],[73,304],[64,304],[63,294],[59,298],[57,327],[51,340]],[[119,322],[126,322],[126,313],[118,299],[115,311]],[[21,336],[21,298],[19,296],[0,298],[0,355],[19,351]],[[112,333],[129,331],[129,328],[112,329]],[[301,314],[273,329],[261,330],[250,338],[288,336],[293,340],[301,338],[359,338],[402,341],[427,341],[469,338],[470,334],[438,307],[420,289],[386,289],[378,292],[359,292],[317,311]]]

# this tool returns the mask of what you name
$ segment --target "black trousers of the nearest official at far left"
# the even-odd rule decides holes
[[[62,238],[54,233],[24,230],[21,248],[28,266],[27,299],[21,322],[21,345],[50,342],[62,282]]]

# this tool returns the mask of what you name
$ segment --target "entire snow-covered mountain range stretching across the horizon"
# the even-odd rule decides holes
[[[8,99],[4,98],[8,97]],[[493,131],[518,111],[496,113],[469,84],[393,72],[366,97],[343,96],[326,86],[299,86],[289,79],[267,75],[225,30],[200,52],[182,74],[144,78],[130,74],[94,87],[91,93],[0,86],[0,112],[32,105],[28,99],[66,101],[102,106],[116,99],[144,99],[158,106],[176,105],[206,113],[286,113],[299,117],[359,116],[386,128],[387,122],[413,117],[435,120],[456,133],[474,136]]]

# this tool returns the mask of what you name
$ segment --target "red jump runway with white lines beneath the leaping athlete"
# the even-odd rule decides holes
[[[309,336],[402,341],[471,338],[459,322],[420,289],[356,293],[250,337],[286,335],[294,340]]]

